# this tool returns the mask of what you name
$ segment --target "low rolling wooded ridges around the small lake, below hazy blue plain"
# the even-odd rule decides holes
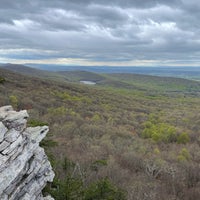
[[[89,71],[44,71],[30,68],[24,65],[5,64],[0,66],[9,71],[17,72],[22,75],[48,79],[59,82],[80,83],[80,81],[93,81],[96,86],[106,86],[111,88],[121,88],[128,90],[146,91],[149,95],[155,92],[170,94],[183,94],[184,92],[197,95],[200,82],[175,77],[159,77],[152,75],[127,74],[127,73],[108,73],[97,74]]]

